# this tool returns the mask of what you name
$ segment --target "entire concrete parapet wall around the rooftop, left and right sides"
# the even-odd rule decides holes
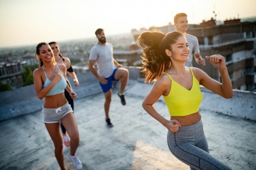
[[[130,77],[125,94],[144,98],[151,89],[152,83],[143,83],[144,80],[140,78],[140,67],[129,67],[128,69]],[[91,72],[78,74],[77,77],[80,83],[78,88],[74,87],[74,83],[70,81],[73,90],[77,93],[76,99],[102,93],[98,80]],[[119,83],[117,83],[118,86]],[[201,87],[201,91],[203,101],[200,109],[256,121],[256,93],[233,90],[233,98],[224,99],[204,87]],[[0,121],[41,110],[44,101],[44,99],[37,98],[34,85],[4,91],[0,93],[0,96]],[[159,100],[164,102],[163,97]]]

